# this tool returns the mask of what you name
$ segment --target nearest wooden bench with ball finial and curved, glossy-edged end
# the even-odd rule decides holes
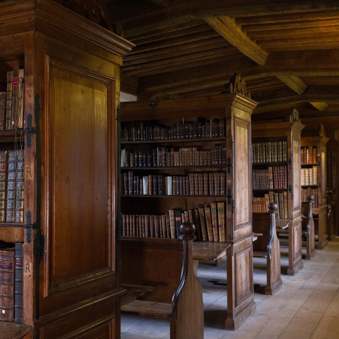
[[[183,223],[181,238],[122,238],[121,282],[153,286],[138,300],[121,307],[150,317],[169,317],[171,339],[203,338],[202,287],[194,273],[195,226]]]

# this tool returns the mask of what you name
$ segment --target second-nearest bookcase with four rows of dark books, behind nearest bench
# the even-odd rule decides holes
[[[155,108],[121,103],[122,235],[171,241],[180,224],[191,221],[197,241],[231,243],[226,328],[255,307],[250,293],[247,306],[235,310],[231,295],[232,289],[243,293],[232,280],[232,267],[240,264],[232,251],[243,252],[242,279],[253,291],[249,145],[255,106],[236,93],[158,100]]]

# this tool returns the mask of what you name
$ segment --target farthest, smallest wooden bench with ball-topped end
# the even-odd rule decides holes
[[[313,195],[307,196],[307,202],[301,206],[301,234],[306,236],[306,255],[305,259],[310,260],[316,253],[314,237],[314,220],[312,214]],[[305,217],[307,215],[307,217]]]

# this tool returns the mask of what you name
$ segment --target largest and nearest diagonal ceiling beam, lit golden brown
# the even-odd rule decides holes
[[[254,43],[230,17],[206,18],[205,21],[225,38],[230,44],[239,49],[246,57],[259,65],[267,61],[268,53]]]

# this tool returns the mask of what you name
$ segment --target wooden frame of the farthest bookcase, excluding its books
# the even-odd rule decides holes
[[[315,147],[317,150],[317,161],[313,164],[301,164],[301,167],[308,168],[317,166],[316,185],[305,185],[302,188],[311,187],[318,189],[318,205],[312,210],[314,214],[315,234],[318,235],[316,246],[319,250],[327,245],[326,144],[328,140],[328,138],[323,136],[301,138],[301,147]]]

